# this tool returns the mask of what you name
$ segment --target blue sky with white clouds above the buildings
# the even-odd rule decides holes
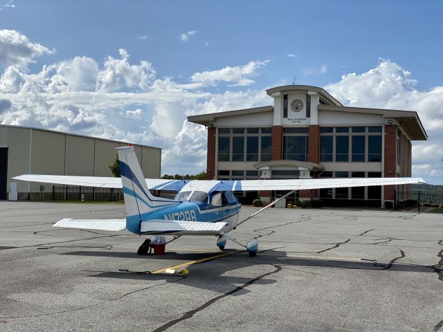
[[[320,86],[347,106],[417,111],[413,176],[443,184],[442,1],[0,0],[0,123],[162,147],[206,169],[187,116]]]

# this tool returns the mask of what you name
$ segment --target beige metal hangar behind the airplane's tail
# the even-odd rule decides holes
[[[78,199],[78,188],[59,188],[11,180],[21,174],[114,176],[109,165],[116,160],[116,147],[127,142],[62,133],[31,127],[0,125],[0,199]],[[161,149],[132,145],[147,178],[160,178]],[[88,199],[100,199],[100,190],[85,192]],[[56,195],[55,195],[56,194]],[[67,197],[69,199],[69,196]]]

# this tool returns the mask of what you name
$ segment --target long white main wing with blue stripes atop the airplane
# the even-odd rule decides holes
[[[121,188],[121,178],[98,176],[63,176],[24,174],[15,176],[15,180],[59,185],[81,185],[84,187]],[[406,185],[408,183],[426,183],[423,178],[303,178],[287,180],[170,180],[146,178],[150,190],[171,190],[201,192],[214,191],[255,191],[255,190],[309,190],[336,187],[365,187],[370,185]]]

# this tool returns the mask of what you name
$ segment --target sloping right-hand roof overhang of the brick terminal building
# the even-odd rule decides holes
[[[339,111],[350,113],[379,114],[383,118],[395,120],[397,125],[404,130],[410,140],[427,140],[428,135],[424,130],[422,121],[415,111],[399,111],[395,109],[367,109],[363,107],[344,107],[331,105],[318,105],[318,111]]]

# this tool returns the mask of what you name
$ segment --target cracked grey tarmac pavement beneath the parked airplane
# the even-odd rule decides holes
[[[138,256],[135,234],[52,227],[124,214],[0,202],[0,331],[443,331],[441,214],[271,208],[230,233],[256,257],[196,236]]]

